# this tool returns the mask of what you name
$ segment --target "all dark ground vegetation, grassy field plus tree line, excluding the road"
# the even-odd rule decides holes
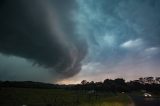
[[[159,98],[159,91],[158,83],[125,82],[120,78],[103,82],[83,80],[76,85],[0,81],[0,106],[132,106],[128,94],[143,97],[149,92]]]

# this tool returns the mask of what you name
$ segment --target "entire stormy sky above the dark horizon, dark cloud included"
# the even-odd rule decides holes
[[[1,0],[0,80],[160,76],[159,0]]]

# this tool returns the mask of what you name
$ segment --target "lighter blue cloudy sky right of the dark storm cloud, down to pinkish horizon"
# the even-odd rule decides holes
[[[82,71],[70,82],[160,75],[159,0],[76,2],[76,30],[89,48]]]

